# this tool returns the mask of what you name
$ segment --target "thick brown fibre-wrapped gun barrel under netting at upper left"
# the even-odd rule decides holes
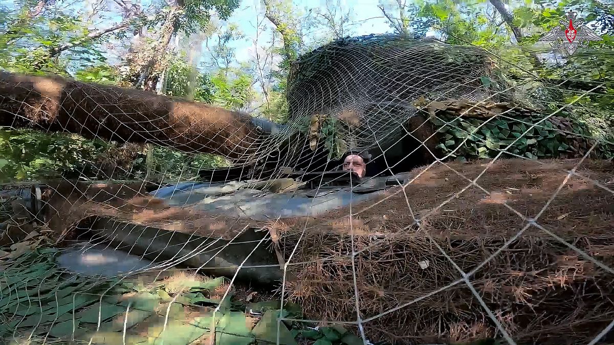
[[[217,153],[237,163],[260,148],[249,115],[155,93],[0,72],[0,126]]]

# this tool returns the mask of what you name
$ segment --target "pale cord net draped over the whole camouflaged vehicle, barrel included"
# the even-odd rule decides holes
[[[172,176],[117,180],[131,167],[113,151],[110,168],[4,187],[5,339],[612,340],[614,143],[572,120],[600,85],[564,88],[481,48],[368,36],[293,65],[282,124],[56,77],[2,72],[0,95],[6,130],[187,155]],[[567,159],[532,159],[551,134]],[[365,151],[366,176],[341,172],[345,153]],[[230,168],[204,169],[203,153]],[[481,159],[454,160],[467,155]]]

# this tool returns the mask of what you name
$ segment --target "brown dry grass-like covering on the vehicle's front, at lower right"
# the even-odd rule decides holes
[[[462,278],[459,269],[472,274],[481,300],[518,343],[592,339],[614,318],[612,274],[535,226],[505,247],[527,224],[523,217],[532,219],[543,209],[578,160],[497,161],[477,181],[484,192],[470,180],[487,163],[416,169],[406,187],[352,206],[351,222],[349,209],[279,222],[275,235],[285,260],[297,247],[286,285],[290,300],[301,304],[309,319],[356,320],[351,261],[356,252],[358,307],[362,319],[374,318],[365,324],[371,341],[496,335],[468,286],[448,287]],[[614,194],[591,181],[611,189],[614,166],[585,161],[577,172],[586,179],[570,177],[537,223],[612,266]],[[204,236],[230,236],[247,224],[266,226],[139,198],[112,207],[93,201],[72,207],[162,227],[179,222],[179,231]],[[394,308],[399,309],[389,312]]]

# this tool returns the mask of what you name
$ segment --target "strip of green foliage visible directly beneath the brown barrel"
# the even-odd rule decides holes
[[[0,182],[41,180],[57,177],[76,179],[189,179],[199,169],[224,166],[223,158],[135,144],[91,141],[76,134],[40,133],[31,130],[0,131]]]

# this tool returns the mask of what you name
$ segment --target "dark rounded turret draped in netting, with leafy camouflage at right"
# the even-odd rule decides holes
[[[548,118],[555,110],[547,106],[553,98],[562,98],[556,85],[527,75],[524,83],[540,85],[527,91],[524,83],[518,85],[503,74],[509,66],[482,48],[435,39],[341,39],[301,56],[293,65],[288,78],[289,122],[311,118],[310,131],[319,131],[312,137],[326,141],[333,155],[368,149],[387,156],[389,165],[413,151],[414,161],[428,163],[435,157],[494,157],[508,145],[511,155],[528,158],[584,155],[594,139],[588,126],[569,119],[569,109],[558,109],[556,118]],[[461,106],[435,114],[445,110],[441,103],[459,102]],[[482,128],[494,117],[497,123]],[[524,133],[523,123],[535,122],[536,133]],[[529,144],[516,141],[527,134]],[[426,139],[428,152],[418,148]],[[451,152],[459,145],[460,150]],[[593,157],[604,157],[612,149],[600,148]]]

